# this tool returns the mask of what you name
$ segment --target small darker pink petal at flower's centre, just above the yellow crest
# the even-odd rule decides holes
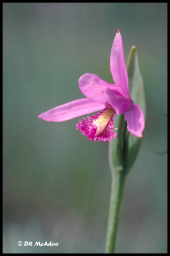
[[[105,91],[107,99],[112,108],[115,109],[116,114],[125,113],[131,107],[132,100],[130,98],[123,97],[122,94],[115,89],[107,88]]]

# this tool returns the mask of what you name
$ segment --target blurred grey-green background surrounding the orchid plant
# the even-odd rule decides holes
[[[108,143],[38,114],[84,98],[83,73],[113,84],[119,29],[138,50],[147,117],[125,184],[116,252],[166,253],[167,4],[3,5],[4,253],[104,252],[111,174]],[[18,241],[58,242],[19,247]]]

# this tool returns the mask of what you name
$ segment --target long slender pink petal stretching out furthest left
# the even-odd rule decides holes
[[[73,119],[74,117],[102,110],[103,108],[105,108],[104,104],[95,103],[87,98],[82,98],[51,108],[47,112],[40,114],[38,117],[45,121],[66,121]]]

